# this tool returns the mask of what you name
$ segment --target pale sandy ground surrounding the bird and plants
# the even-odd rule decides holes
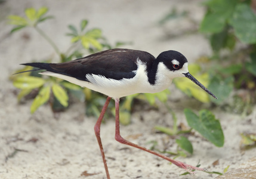
[[[54,119],[49,106],[42,106],[33,115],[30,104],[18,104],[16,88],[8,76],[20,63],[32,60],[41,61],[54,54],[50,45],[32,29],[24,29],[10,35],[11,26],[5,18],[10,14],[21,15],[24,8],[47,6],[49,14],[55,16],[40,26],[50,35],[58,47],[65,51],[69,38],[64,36],[67,24],[78,24],[82,18],[90,20],[90,28],[100,27],[103,34],[113,44],[116,41],[131,41],[125,46],[149,51],[158,55],[165,50],[178,50],[190,61],[200,55],[211,53],[206,39],[197,33],[182,33],[195,28],[190,20],[174,20],[159,26],[158,21],[172,7],[178,11],[189,11],[193,21],[202,19],[202,1],[15,1],[8,0],[0,5],[0,178],[106,178],[100,151],[94,136],[96,118],[84,116],[84,104],[76,103]],[[24,38],[26,36],[27,38]],[[170,87],[169,103],[178,116],[178,122],[186,120],[184,107],[200,110],[209,107],[196,100],[187,98],[174,85]],[[174,103],[175,101],[175,103]],[[160,110],[150,106],[135,110],[132,124],[121,126],[122,135],[128,140],[150,147],[149,141],[158,141],[159,149],[168,143],[168,150],[175,151],[173,138],[153,130],[156,125],[172,126],[171,115],[165,107]],[[150,110],[151,109],[151,110]],[[251,115],[225,113],[213,109],[220,119],[225,135],[224,147],[217,148],[205,141],[201,135],[190,136],[194,154],[180,161],[201,166],[208,171],[223,172],[226,166],[236,169],[243,162],[255,157],[255,149],[241,152],[240,133],[255,131],[256,107]],[[141,118],[143,119],[141,121]],[[195,175],[180,176],[184,171],[169,165],[162,159],[119,144],[114,139],[114,119],[107,119],[102,125],[101,136],[112,178],[214,178],[217,175],[197,172]],[[139,137],[134,137],[139,136]],[[33,139],[38,139],[34,141]],[[13,158],[7,158],[15,149],[20,150]],[[212,165],[219,160],[218,165]],[[87,171],[92,176],[81,176]],[[256,178],[256,177],[255,177]]]

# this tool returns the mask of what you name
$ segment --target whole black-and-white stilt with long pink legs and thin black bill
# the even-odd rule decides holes
[[[61,78],[108,96],[98,121],[94,126],[107,178],[110,178],[110,176],[101,144],[100,125],[111,98],[115,100],[116,107],[115,139],[117,141],[164,158],[189,172],[192,172],[193,169],[204,170],[175,161],[174,159],[131,143],[122,138],[119,131],[119,98],[140,92],[155,93],[165,90],[171,85],[172,79],[176,77],[189,78],[208,92],[208,94],[212,95],[212,97],[216,98],[212,92],[190,75],[187,69],[188,62],[183,54],[169,50],[159,54],[155,58],[145,51],[116,48],[65,63],[25,63],[23,65],[44,69],[45,71],[41,72],[42,75]]]

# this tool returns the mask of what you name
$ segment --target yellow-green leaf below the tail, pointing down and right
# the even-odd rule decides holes
[[[53,90],[54,96],[57,98],[60,104],[64,107],[67,107],[67,105],[69,104],[69,96],[67,95],[67,92],[58,84],[53,84],[51,88]]]

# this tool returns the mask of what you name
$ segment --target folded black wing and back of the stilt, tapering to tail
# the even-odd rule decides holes
[[[72,76],[82,81],[88,81],[87,74],[119,80],[135,76],[134,70],[137,70],[138,58],[147,65],[147,69],[155,60],[153,55],[144,51],[116,48],[64,63],[25,63],[23,65]]]

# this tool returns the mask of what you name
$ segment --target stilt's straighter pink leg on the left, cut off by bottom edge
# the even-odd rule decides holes
[[[98,121],[96,122],[96,124],[94,126],[94,132],[95,132],[95,135],[97,137],[98,146],[100,146],[100,152],[101,152],[104,167],[105,167],[105,170],[106,170],[107,179],[110,179],[110,176],[109,176],[109,169],[107,169],[107,161],[106,161],[106,158],[105,158],[104,150],[103,150],[101,139],[100,139],[100,125],[101,125],[104,113],[106,112],[107,106],[109,106],[110,100],[111,100],[111,98],[107,97],[106,103],[104,104],[103,109],[101,110],[100,116],[98,117]]]

